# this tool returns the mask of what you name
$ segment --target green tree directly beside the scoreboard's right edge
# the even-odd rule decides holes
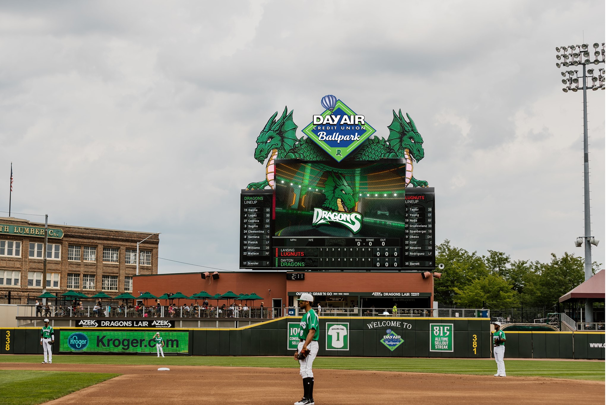
[[[435,280],[435,300],[446,305],[454,305],[455,288],[464,288],[477,279],[488,275],[483,258],[477,252],[453,247],[449,240],[437,245],[437,264],[443,263],[441,278]]]

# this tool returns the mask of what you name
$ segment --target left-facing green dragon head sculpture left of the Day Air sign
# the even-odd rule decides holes
[[[285,107],[281,118],[275,121],[277,114],[278,111],[270,117],[264,129],[258,135],[257,140],[255,140],[257,148],[255,148],[254,157],[260,163],[264,163],[264,160],[270,155],[272,149],[279,149],[282,153],[278,157],[283,157],[289,149],[294,147],[295,142],[298,140],[295,137],[295,130],[298,126],[292,119],[294,111],[291,110],[287,114],[287,107]]]

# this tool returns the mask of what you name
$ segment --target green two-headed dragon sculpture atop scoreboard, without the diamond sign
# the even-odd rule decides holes
[[[264,163],[266,162],[266,179],[258,183],[249,183],[247,189],[263,189],[270,187],[274,189],[274,161],[275,159],[302,159],[302,160],[327,160],[327,155],[323,149],[314,143],[308,137],[298,138],[295,136],[295,131],[298,126],[294,123],[291,110],[287,114],[287,107],[283,111],[278,120],[275,120],[278,111],[264,126],[264,129],[258,135],[256,140],[257,148],[255,148],[255,159]],[[424,158],[424,149],[422,147],[423,139],[416,129],[414,121],[406,114],[407,121],[401,114],[393,110],[393,121],[389,125],[389,138],[386,140],[379,137],[370,137],[365,140],[352,157],[347,157],[348,160],[378,160],[381,158],[405,158],[406,159],[406,187],[412,185],[414,187],[427,187],[429,183],[424,180],[416,180],[413,175],[413,162],[420,162]]]

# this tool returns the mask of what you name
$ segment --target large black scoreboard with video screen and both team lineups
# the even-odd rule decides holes
[[[240,268],[434,270],[435,192],[406,159],[274,163],[274,189],[241,191]]]

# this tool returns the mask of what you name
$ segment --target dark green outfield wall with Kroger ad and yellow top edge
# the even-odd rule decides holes
[[[150,340],[161,332],[166,354],[292,355],[299,321],[279,318],[241,328],[55,328],[53,352],[153,354]],[[486,318],[322,317],[319,325],[320,356],[490,358],[492,353]],[[3,328],[0,333],[0,354],[43,353],[40,328]],[[506,358],[605,358],[602,332],[506,332],[506,338]]]

